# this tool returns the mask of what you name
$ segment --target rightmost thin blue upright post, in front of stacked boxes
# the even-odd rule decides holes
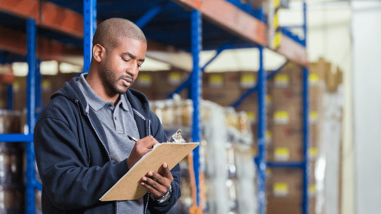
[[[303,31],[304,31],[304,46],[307,41],[307,16],[306,3],[303,4]],[[308,139],[309,139],[309,103],[308,103],[308,68],[303,67],[303,214],[308,214]]]

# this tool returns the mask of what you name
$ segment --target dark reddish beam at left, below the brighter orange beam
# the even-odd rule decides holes
[[[26,55],[26,34],[0,26],[0,49]],[[69,48],[66,45],[46,38],[37,39],[37,57],[44,60],[60,59],[64,55],[82,54],[82,48]]]

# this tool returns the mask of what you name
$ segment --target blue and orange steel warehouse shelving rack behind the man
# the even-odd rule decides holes
[[[260,156],[256,159],[259,168],[259,213],[266,212],[265,206],[265,169],[266,165],[272,167],[302,167],[304,170],[304,197],[303,197],[303,213],[308,213],[308,198],[306,197],[306,190],[308,186],[308,83],[307,76],[308,65],[307,55],[305,50],[305,37],[304,41],[298,40],[287,29],[282,30],[281,42],[276,52],[284,55],[289,60],[292,60],[302,66],[303,70],[303,105],[304,105],[304,154],[305,160],[302,163],[266,163],[265,159],[265,94],[266,94],[266,76],[263,67],[263,49],[268,46],[267,43],[267,26],[264,21],[263,12],[251,9],[248,4],[241,4],[238,0],[173,0],[169,1],[145,1],[146,4],[141,4],[139,1],[130,2],[129,8],[131,13],[129,17],[126,14],[120,14],[118,11],[114,13],[105,14],[106,10],[110,9],[110,4],[114,4],[114,9],[125,7],[122,1],[107,0],[100,1],[103,4],[97,10],[97,0],[84,0],[83,5],[78,5],[77,1],[61,1],[51,0],[49,2],[41,2],[39,0],[19,1],[15,4],[12,0],[4,0],[0,3],[0,13],[6,16],[15,16],[26,19],[26,32],[14,32],[14,30],[7,27],[0,26],[4,34],[10,35],[4,37],[0,35],[1,49],[12,52],[15,54],[25,55],[26,61],[29,65],[29,73],[27,77],[27,125],[28,134],[1,134],[0,141],[25,141],[27,153],[27,170],[26,170],[26,213],[35,212],[35,189],[42,189],[42,185],[35,179],[34,169],[34,147],[33,147],[33,129],[36,120],[36,107],[39,108],[39,100],[41,97],[39,90],[39,72],[36,70],[36,50],[38,50],[39,59],[56,59],[61,60],[60,56],[70,54],[81,54],[81,51],[76,45],[78,41],[83,39],[83,55],[84,55],[84,71],[89,67],[90,50],[92,35],[96,28],[97,16],[101,19],[110,17],[123,17],[137,23],[140,26],[148,39],[153,39],[155,42],[148,49],[167,50],[163,44],[169,44],[179,49],[192,52],[193,56],[193,71],[190,78],[184,82],[178,90],[188,87],[190,90],[189,97],[193,99],[194,103],[194,116],[192,127],[193,141],[200,141],[200,97],[201,97],[201,72],[204,68],[215,59],[219,53],[229,48],[244,48],[244,47],[258,47],[260,50],[260,69],[259,69],[259,82],[257,89],[259,92],[259,146]],[[176,3],[176,4],[174,4]],[[185,10],[184,10],[185,9]],[[190,11],[188,13],[188,11]],[[163,15],[163,13],[165,14]],[[83,15],[82,15],[82,14]],[[143,15],[142,15],[143,14]],[[235,16],[232,16],[235,14]],[[160,16],[162,15],[162,16]],[[154,17],[158,21],[153,22]],[[236,16],[240,17],[236,19]],[[169,20],[169,18],[173,20]],[[176,17],[176,18],[175,18]],[[202,18],[208,22],[203,22]],[[160,21],[164,20],[164,21]],[[167,22],[166,22],[167,21]],[[168,22],[168,21],[173,21]],[[190,21],[190,23],[189,23]],[[180,25],[174,25],[179,22]],[[213,24],[211,24],[213,23]],[[82,25],[83,28],[82,28]],[[172,29],[170,33],[174,34],[173,38],[168,38],[168,34],[158,31],[154,26],[163,26],[168,24],[167,28]],[[1,25],[1,23],[0,23]],[[147,26],[147,27],[146,27]],[[187,26],[190,27],[188,32]],[[215,26],[218,26],[217,28]],[[39,28],[37,28],[39,27]],[[304,6],[304,34],[306,35],[306,22],[305,22],[305,6]],[[12,27],[11,27],[12,28]],[[37,37],[37,29],[39,35],[48,37],[52,34],[59,42],[50,39]],[[175,30],[173,30],[175,29]],[[176,30],[181,32],[178,33]],[[223,29],[223,30],[221,30]],[[52,30],[52,31],[50,31]],[[168,30],[170,31],[170,30]],[[58,32],[58,33],[56,33]],[[184,33],[185,32],[185,33]],[[61,37],[60,35],[66,35]],[[215,36],[218,34],[218,37]],[[69,36],[68,36],[69,35]],[[67,37],[73,38],[72,45],[74,48],[69,48],[62,43],[68,41]],[[10,39],[12,38],[12,39]],[[25,40],[15,40],[15,38],[26,38]],[[49,38],[49,37],[48,37]],[[50,37],[51,38],[51,37]],[[190,43],[184,42],[189,40]],[[25,49],[26,46],[27,48]],[[36,49],[37,48],[37,49]],[[199,54],[201,50],[217,50],[217,54],[203,67],[200,67]],[[274,74],[274,73],[272,73]],[[251,91],[255,91],[253,88]],[[245,93],[246,95],[249,93]],[[242,99],[244,98],[243,95]],[[239,100],[235,104],[238,104]],[[233,104],[234,105],[234,104]],[[199,193],[199,150],[194,150],[194,170],[197,184],[197,193]],[[200,198],[197,194],[197,206],[200,204]]]

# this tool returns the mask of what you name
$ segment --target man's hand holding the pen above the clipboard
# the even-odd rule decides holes
[[[151,151],[153,146],[156,144],[158,144],[158,142],[152,135],[136,141],[134,148],[132,148],[130,157],[127,158],[129,168],[131,169],[131,167],[133,167],[135,163],[140,160],[140,158],[147,154],[147,152]]]

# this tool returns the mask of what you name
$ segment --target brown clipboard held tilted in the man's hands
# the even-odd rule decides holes
[[[198,142],[186,142],[184,144],[163,142],[162,144],[156,144],[151,152],[143,156],[99,200],[137,200],[143,197],[148,190],[140,182],[149,170],[158,171],[163,163],[167,163],[168,167],[172,169],[199,145]]]

